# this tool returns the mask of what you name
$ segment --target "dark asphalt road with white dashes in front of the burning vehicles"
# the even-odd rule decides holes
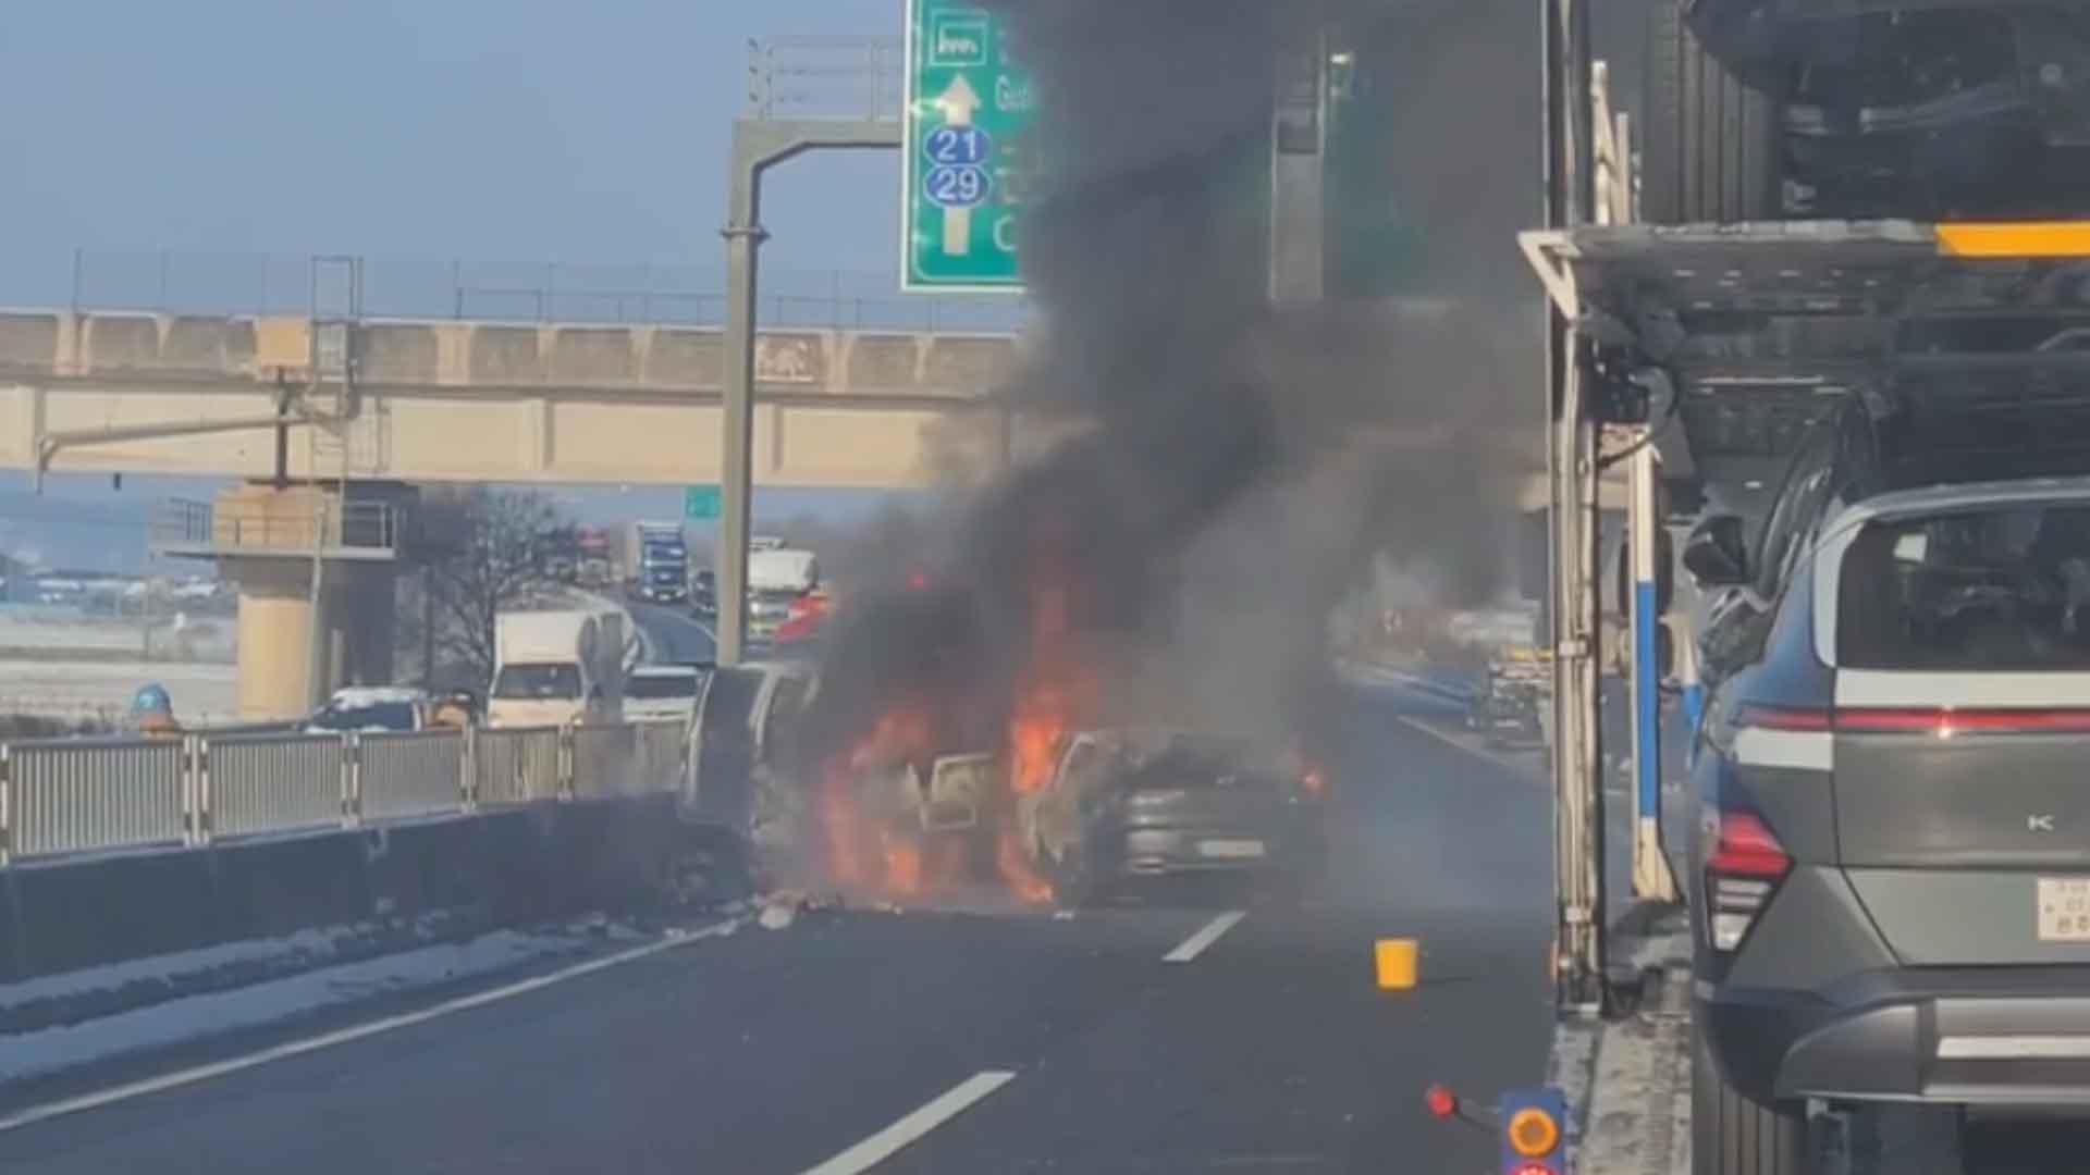
[[[0,1169],[1478,1175],[1421,1091],[1542,1075],[1549,803],[1392,707],[1348,711],[1304,909],[813,912],[0,1129]],[[1419,989],[1373,989],[1384,935]]]

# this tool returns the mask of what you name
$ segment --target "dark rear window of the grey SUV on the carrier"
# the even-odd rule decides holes
[[[2011,504],[1866,525],[1843,554],[1837,663],[2090,669],[2090,506]]]

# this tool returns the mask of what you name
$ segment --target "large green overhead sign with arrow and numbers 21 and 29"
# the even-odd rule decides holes
[[[1030,73],[1007,40],[1007,21],[976,0],[907,0],[905,291],[1022,291]]]

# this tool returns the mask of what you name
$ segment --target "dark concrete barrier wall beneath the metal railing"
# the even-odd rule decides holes
[[[0,983],[428,914],[479,932],[629,907],[690,836],[675,797],[635,797],[17,863],[0,870]]]

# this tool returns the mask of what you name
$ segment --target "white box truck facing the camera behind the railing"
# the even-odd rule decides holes
[[[493,659],[487,725],[623,717],[625,623],[617,613],[502,613]]]

